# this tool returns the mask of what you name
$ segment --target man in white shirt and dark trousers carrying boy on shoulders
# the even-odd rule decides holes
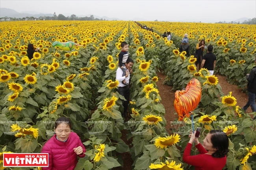
[[[119,81],[117,92],[120,95],[124,96],[124,98],[126,99],[126,101],[122,100],[122,106],[124,106],[124,111],[122,113],[123,118],[126,117],[126,110],[128,108],[129,97],[130,97],[130,88],[129,88],[129,86],[122,84],[122,81],[125,79],[125,81],[129,84],[130,73],[132,73],[133,64],[134,64],[134,61],[132,60],[132,58],[128,58],[126,60],[126,62],[125,62],[126,75],[125,76],[122,76],[122,74],[123,74],[122,69],[120,67],[117,68],[116,80]]]

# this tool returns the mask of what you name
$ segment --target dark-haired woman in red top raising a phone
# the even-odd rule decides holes
[[[195,138],[195,133],[189,135],[183,161],[195,166],[195,170],[222,170],[226,165],[226,154],[228,153],[228,136],[221,130],[211,130],[205,137],[203,145]],[[195,140],[195,146],[200,154],[190,155],[191,146]]]

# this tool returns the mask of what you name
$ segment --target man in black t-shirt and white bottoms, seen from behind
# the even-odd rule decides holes
[[[201,68],[206,68],[210,72],[210,75],[213,75],[214,68],[216,66],[216,56],[212,53],[213,46],[209,45],[207,48],[207,52],[202,58]]]

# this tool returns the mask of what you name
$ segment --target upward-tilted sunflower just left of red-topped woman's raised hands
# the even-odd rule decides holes
[[[167,148],[167,146],[172,146],[180,141],[180,135],[173,134],[167,137],[158,137],[155,139],[155,145],[157,148]]]

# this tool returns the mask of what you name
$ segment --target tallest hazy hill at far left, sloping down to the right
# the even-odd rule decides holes
[[[53,14],[30,14],[30,13],[19,13],[13,9],[8,8],[0,8],[0,18],[5,16],[12,17],[12,18],[23,18],[26,16],[33,16],[38,18],[39,16],[53,16]]]

